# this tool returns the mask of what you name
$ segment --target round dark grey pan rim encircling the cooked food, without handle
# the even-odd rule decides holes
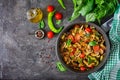
[[[69,67],[68,65],[66,65],[66,63],[64,62],[62,56],[60,55],[60,51],[59,51],[59,46],[60,46],[59,43],[60,43],[60,37],[61,37],[61,35],[62,35],[63,33],[65,33],[65,32],[67,32],[67,31],[69,31],[69,30],[72,28],[72,26],[74,26],[75,24],[80,24],[80,25],[81,25],[81,24],[88,24],[88,25],[94,26],[94,27],[96,28],[96,30],[103,35],[104,40],[105,40],[106,50],[105,50],[105,53],[104,53],[104,54],[105,54],[105,55],[104,55],[104,59],[100,62],[100,64],[99,64],[98,66],[96,66],[96,67],[94,67],[93,69],[90,69],[90,70],[88,70],[88,71],[85,71],[85,72],[81,72],[81,71],[75,70],[75,69]],[[57,56],[58,56],[59,60],[61,61],[61,63],[63,64],[63,66],[64,66],[66,69],[68,69],[68,70],[70,70],[70,71],[72,71],[72,72],[75,72],[75,73],[79,73],[79,74],[89,74],[89,73],[92,73],[92,72],[95,72],[95,71],[99,70],[99,69],[105,64],[105,62],[106,62],[106,60],[107,60],[107,58],[108,58],[108,56],[109,56],[109,52],[110,52],[110,43],[109,43],[109,39],[108,39],[106,33],[105,33],[99,26],[95,25],[94,23],[79,22],[79,23],[73,23],[73,24],[71,24],[71,25],[69,25],[69,26],[66,26],[66,27],[62,30],[62,32],[59,34],[58,39],[57,39],[56,53],[57,53]]]

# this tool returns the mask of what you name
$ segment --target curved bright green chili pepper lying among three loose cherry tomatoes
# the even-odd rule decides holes
[[[53,20],[52,20],[54,13],[55,13],[55,11],[48,13],[48,26],[49,26],[50,30],[53,31],[54,33],[59,33],[63,29],[63,26],[60,27],[59,29],[55,28],[55,26],[53,24]]]

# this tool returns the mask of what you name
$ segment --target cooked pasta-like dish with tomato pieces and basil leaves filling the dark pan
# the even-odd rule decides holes
[[[94,26],[72,26],[60,38],[60,54],[64,62],[75,70],[93,69],[104,58],[105,40]]]

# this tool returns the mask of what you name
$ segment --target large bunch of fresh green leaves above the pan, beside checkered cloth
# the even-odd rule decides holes
[[[73,0],[74,11],[69,21],[80,15],[86,17],[86,22],[101,22],[101,19],[114,13],[118,0]]]

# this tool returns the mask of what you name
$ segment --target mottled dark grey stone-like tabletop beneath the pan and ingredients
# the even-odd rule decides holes
[[[71,0],[64,1],[67,9],[58,9],[64,16],[61,25],[70,24],[67,19],[73,11]],[[51,40],[47,37],[38,40],[31,35],[38,24],[26,19],[26,11],[41,8],[47,23],[49,4],[58,6],[57,0],[0,0],[0,79],[88,80],[87,75],[59,72],[56,68],[58,35]],[[49,31],[47,24],[44,30]]]

